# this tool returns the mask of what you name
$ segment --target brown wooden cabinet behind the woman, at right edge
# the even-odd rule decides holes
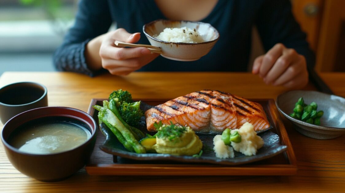
[[[292,0],[316,53],[316,71],[345,71],[345,0]]]

